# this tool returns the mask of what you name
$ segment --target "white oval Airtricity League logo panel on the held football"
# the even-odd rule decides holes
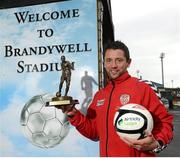
[[[117,121],[117,128],[122,130],[139,129],[144,125],[144,120],[136,114],[124,114]]]

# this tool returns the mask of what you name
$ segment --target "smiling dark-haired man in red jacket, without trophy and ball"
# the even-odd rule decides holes
[[[63,108],[69,121],[85,137],[100,142],[100,156],[155,156],[173,138],[172,115],[168,114],[151,87],[127,72],[131,59],[127,46],[112,42],[105,49],[107,86],[99,90],[84,116],[73,105]],[[123,99],[123,96],[126,96]],[[146,107],[154,119],[152,133],[140,140],[120,138],[113,125],[117,107],[136,103]]]

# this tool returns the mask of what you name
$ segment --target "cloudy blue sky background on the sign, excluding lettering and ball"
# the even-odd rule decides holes
[[[18,24],[14,12],[29,11],[41,13],[44,11],[67,10],[78,8],[80,17],[77,19],[61,19],[46,22]],[[98,143],[88,140],[71,127],[68,136],[61,144],[51,149],[41,149],[32,145],[22,134],[20,126],[20,113],[25,103],[33,96],[43,93],[55,94],[58,90],[60,73],[17,73],[17,63],[40,64],[60,62],[60,55],[32,55],[21,57],[4,57],[4,46],[12,45],[14,48],[28,48],[30,46],[46,46],[54,44],[84,43],[92,48],[86,54],[66,54],[69,61],[75,62],[72,72],[72,87],[70,94],[82,101],[84,92],[81,91],[80,79],[87,70],[91,76],[98,80],[97,59],[97,25],[96,1],[79,0],[33,7],[22,7],[0,11],[0,156],[98,156]],[[89,14],[91,12],[91,14]],[[28,29],[27,29],[28,28]],[[38,29],[52,28],[54,34],[51,38],[38,38]],[[97,86],[94,87],[94,91]],[[3,142],[3,143],[2,143]]]

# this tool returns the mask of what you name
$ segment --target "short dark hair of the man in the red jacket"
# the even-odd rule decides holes
[[[129,49],[121,41],[112,41],[112,42],[107,43],[105,46],[105,49],[104,49],[104,56],[105,56],[107,49],[121,49],[124,51],[124,56],[126,57],[126,60],[128,61],[130,59]]]

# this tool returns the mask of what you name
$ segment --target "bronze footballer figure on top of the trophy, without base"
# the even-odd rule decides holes
[[[74,70],[74,62],[70,63],[69,61],[66,61],[66,58],[64,55],[61,56],[61,80],[59,84],[59,92],[57,92],[57,96],[61,96],[61,90],[64,81],[66,81],[66,89],[65,89],[65,96],[67,96],[67,93],[69,91],[69,86],[71,82],[71,70]]]

